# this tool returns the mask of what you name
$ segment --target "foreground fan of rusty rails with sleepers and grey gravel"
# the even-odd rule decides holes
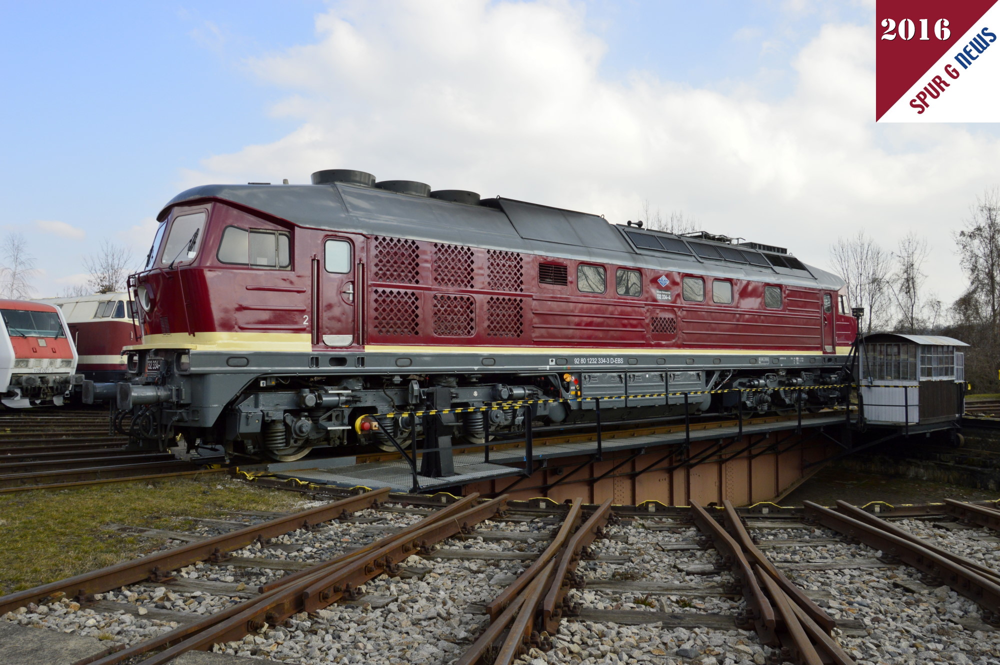
[[[303,664],[1000,657],[994,504],[438,498],[378,490],[259,524],[203,520],[180,547],[0,598],[0,615],[102,635],[73,665],[186,650]]]

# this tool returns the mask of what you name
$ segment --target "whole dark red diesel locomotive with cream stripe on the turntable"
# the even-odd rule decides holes
[[[196,187],[160,213],[130,281],[130,378],[84,391],[114,389],[137,441],[291,460],[408,441],[420,422],[380,414],[424,407],[544,398],[536,417],[562,423],[594,397],[606,419],[843,398],[844,283],[784,249],[359,171],[312,181]],[[723,388],[755,390],[648,397]],[[524,426],[513,406],[440,418],[467,441]]]

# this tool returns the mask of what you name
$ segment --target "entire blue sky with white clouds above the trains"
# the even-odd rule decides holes
[[[873,0],[0,0],[0,231],[52,296],[102,241],[138,263],[188,187],[351,168],[621,223],[648,201],[821,267],[913,231],[947,304],[1000,133],[876,124],[873,23]]]

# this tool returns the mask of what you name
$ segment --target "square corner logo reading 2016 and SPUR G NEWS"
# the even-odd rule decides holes
[[[875,119],[1000,122],[998,36],[998,0],[877,0]]]

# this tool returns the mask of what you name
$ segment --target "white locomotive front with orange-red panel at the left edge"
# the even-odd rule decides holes
[[[58,307],[0,300],[0,402],[10,408],[61,405],[77,355]]]

